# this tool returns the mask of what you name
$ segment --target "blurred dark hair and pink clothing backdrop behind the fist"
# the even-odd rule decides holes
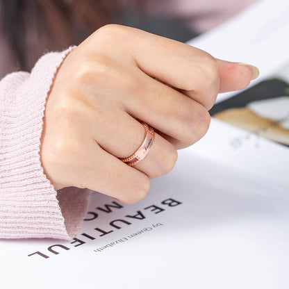
[[[0,0],[0,79],[109,23],[188,41],[256,0]]]

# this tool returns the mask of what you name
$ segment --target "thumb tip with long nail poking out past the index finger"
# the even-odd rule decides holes
[[[220,92],[246,88],[250,81],[259,76],[259,70],[245,63],[231,63],[217,59],[220,67]]]

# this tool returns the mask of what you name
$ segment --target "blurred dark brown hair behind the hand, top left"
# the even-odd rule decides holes
[[[31,69],[44,51],[79,44],[113,21],[117,0],[0,0],[3,35],[19,69]]]

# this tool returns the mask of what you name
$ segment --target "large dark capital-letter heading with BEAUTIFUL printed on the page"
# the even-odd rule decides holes
[[[181,204],[180,201],[176,201],[175,199],[165,199],[164,201],[160,201],[160,205],[156,206],[156,205],[151,205],[151,206],[147,206],[145,207],[143,210],[145,211],[150,211],[153,212],[154,214],[158,214],[161,213],[163,211],[166,210],[166,208],[172,208],[174,206],[179,206]],[[103,213],[112,213],[113,209],[121,209],[124,208],[121,204],[117,203],[116,201],[112,201],[111,204],[105,204],[102,207],[97,207],[95,208],[96,211],[95,212],[88,212],[88,216],[86,219],[84,219],[85,222],[90,222],[92,220],[97,219],[97,217],[99,217],[99,213],[103,212]],[[122,219],[116,219],[116,220],[112,220],[111,222],[109,222],[109,226],[110,229],[104,229],[104,228],[94,228],[94,232],[97,232],[98,236],[96,236],[94,233],[81,233],[78,237],[79,238],[73,238],[72,242],[70,242],[69,244],[72,244],[72,248],[73,247],[79,247],[81,245],[84,245],[86,242],[91,242],[92,240],[97,240],[98,238],[101,238],[103,236],[106,236],[110,233],[113,233],[115,231],[115,229],[119,230],[122,229],[122,226],[129,226],[132,223],[132,220],[145,220],[146,216],[145,216],[145,212],[142,212],[142,210],[137,210],[133,215],[124,215],[124,217],[122,217]],[[130,221],[130,222],[129,222]],[[60,249],[61,250],[69,250],[71,249],[71,247],[67,247],[65,245],[61,245],[61,244],[55,244],[55,245],[51,245],[47,248],[47,251],[40,252],[40,251],[35,251],[34,253],[28,254],[28,257],[31,256],[40,256],[42,258],[49,258],[52,254],[52,256],[54,255],[58,255],[60,254],[60,252],[58,251]]]

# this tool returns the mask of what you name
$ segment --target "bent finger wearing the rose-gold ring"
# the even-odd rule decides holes
[[[145,138],[144,126],[124,111],[108,112],[103,122],[91,126],[92,137],[104,150],[117,158],[131,156]],[[149,153],[133,167],[153,179],[170,172],[176,163],[176,158],[175,147],[155,133],[154,143]]]

